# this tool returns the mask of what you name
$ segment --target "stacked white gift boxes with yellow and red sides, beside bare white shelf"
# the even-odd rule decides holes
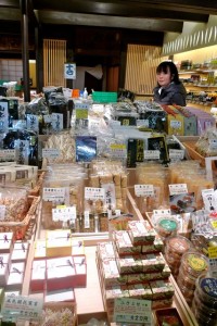
[[[44,241],[35,243],[30,291],[42,292],[49,298],[74,301],[74,288],[86,287],[87,263],[82,241],[74,240],[71,230],[48,230]],[[67,289],[67,290],[66,290]],[[68,292],[69,291],[69,292]],[[71,293],[71,294],[68,294]]]

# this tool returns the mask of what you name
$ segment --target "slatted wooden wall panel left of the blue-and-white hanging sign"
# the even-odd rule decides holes
[[[66,86],[64,63],[66,62],[66,40],[43,40],[43,85]]]

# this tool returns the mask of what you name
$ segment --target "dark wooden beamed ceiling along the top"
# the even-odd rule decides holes
[[[217,1],[206,0],[0,0],[0,29],[21,22],[28,3],[30,26],[85,25],[181,33],[183,22],[206,23]],[[12,26],[12,25],[11,25]]]

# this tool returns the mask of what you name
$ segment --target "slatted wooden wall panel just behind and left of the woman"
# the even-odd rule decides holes
[[[137,95],[152,95],[156,85],[156,67],[167,59],[162,58],[161,52],[161,47],[128,45],[125,89]]]

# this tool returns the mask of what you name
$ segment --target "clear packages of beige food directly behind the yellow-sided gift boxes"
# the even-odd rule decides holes
[[[49,171],[42,186],[43,226],[48,229],[61,228],[65,225],[78,231],[77,216],[79,217],[84,212],[84,183],[87,174],[81,166],[75,164],[51,165]],[[64,214],[58,217],[53,215],[53,209],[60,205],[69,208],[68,212],[64,212],[65,217]],[[75,211],[72,208],[75,208]]]

